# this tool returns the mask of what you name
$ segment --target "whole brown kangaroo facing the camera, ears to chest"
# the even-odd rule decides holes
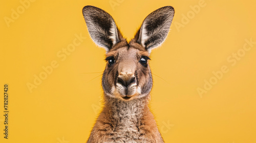
[[[104,107],[87,142],[164,142],[148,108],[153,85],[148,60],[168,34],[174,8],[149,14],[130,42],[109,13],[94,6],[85,6],[82,13],[92,40],[106,50]]]

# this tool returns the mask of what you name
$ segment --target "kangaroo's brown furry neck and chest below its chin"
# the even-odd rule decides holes
[[[154,116],[147,107],[148,97],[124,102],[105,96],[106,104],[91,132],[88,142],[163,142],[158,132]],[[139,104],[140,103],[140,104]],[[133,105],[134,104],[134,105]],[[134,111],[134,118],[127,111]],[[131,117],[131,118],[129,118]],[[133,130],[123,129],[132,120]]]

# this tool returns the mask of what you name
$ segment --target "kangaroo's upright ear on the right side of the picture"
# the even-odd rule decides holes
[[[149,53],[163,43],[173,21],[174,8],[162,7],[149,14],[135,35],[137,43],[141,44]]]

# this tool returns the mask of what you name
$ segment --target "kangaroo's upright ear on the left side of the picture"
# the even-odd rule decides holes
[[[106,52],[120,42],[122,36],[109,13],[94,6],[83,7],[82,13],[91,38],[97,45],[104,47]]]

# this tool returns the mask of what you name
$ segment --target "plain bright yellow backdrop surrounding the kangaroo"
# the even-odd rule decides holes
[[[24,0],[22,0],[24,1]],[[151,109],[165,142],[256,142],[256,44],[234,66],[227,58],[256,41],[255,1],[35,1],[8,24],[20,1],[1,1],[0,142],[86,142],[100,112],[105,51],[89,37],[82,8],[109,12],[131,39],[152,11],[173,6],[165,42],[151,54]],[[111,4],[116,4],[112,5]],[[22,10],[22,9],[20,9]],[[193,13],[195,15],[193,15]],[[189,21],[184,15],[191,14]],[[176,23],[176,24],[175,24]],[[177,27],[182,24],[183,27]],[[57,56],[86,37],[63,61]],[[247,45],[249,48],[249,46]],[[42,66],[58,67],[29,91]],[[228,72],[200,97],[212,71]],[[4,84],[9,85],[9,139],[4,139]]]

